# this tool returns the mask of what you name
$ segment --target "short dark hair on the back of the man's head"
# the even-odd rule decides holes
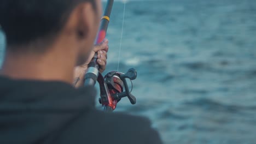
[[[71,11],[86,1],[96,9],[94,0],[1,0],[0,25],[7,46],[19,47],[55,36],[66,24]]]

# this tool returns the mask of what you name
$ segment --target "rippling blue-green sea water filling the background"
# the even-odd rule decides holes
[[[106,72],[118,68],[123,9],[115,1]],[[1,58],[4,47],[1,33]],[[256,143],[255,0],[126,1],[120,57],[120,71],[138,71],[137,104],[117,111],[149,117],[165,143]]]

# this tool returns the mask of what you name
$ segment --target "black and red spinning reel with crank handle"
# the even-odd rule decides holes
[[[126,79],[135,80],[137,71],[133,68],[129,69],[126,74],[117,71],[111,71],[103,77],[98,76],[100,84],[99,102],[105,111],[113,111],[121,98],[128,97],[131,104],[136,104],[136,98],[131,94]],[[111,108],[111,109],[110,109]]]

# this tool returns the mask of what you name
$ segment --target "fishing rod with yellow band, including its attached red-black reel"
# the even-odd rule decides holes
[[[100,29],[97,34],[96,44],[102,43],[105,39],[110,21],[114,0],[108,0],[104,15],[101,19]],[[137,71],[133,68],[129,69],[126,74],[118,71],[110,71],[106,76],[102,76],[99,72],[100,66],[97,63],[97,52],[88,65],[88,70],[84,78],[84,86],[95,86],[98,81],[100,85],[99,102],[105,112],[112,112],[117,107],[121,98],[128,97],[131,104],[136,104],[136,98],[131,94],[126,79],[135,80]]]

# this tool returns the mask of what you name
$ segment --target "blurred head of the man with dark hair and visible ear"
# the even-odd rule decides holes
[[[76,61],[87,59],[101,16],[100,0],[1,0],[0,25],[7,52],[44,55],[72,45]],[[55,49],[55,50],[53,50]],[[67,49],[63,48],[63,51]]]

